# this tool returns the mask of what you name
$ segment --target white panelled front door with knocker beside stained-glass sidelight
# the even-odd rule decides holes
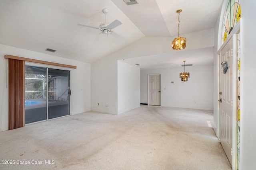
[[[220,51],[220,143],[232,162],[233,145],[233,41],[232,39]],[[227,62],[226,73],[222,72]],[[235,101],[234,101],[235,104]],[[234,152],[235,154],[235,152]]]

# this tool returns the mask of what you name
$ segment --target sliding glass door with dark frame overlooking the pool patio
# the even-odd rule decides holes
[[[70,71],[25,66],[25,124],[70,115]]]

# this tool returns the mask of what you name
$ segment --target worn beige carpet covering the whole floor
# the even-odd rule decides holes
[[[230,170],[212,123],[212,111],[152,106],[62,117],[1,132],[14,164],[0,169]]]

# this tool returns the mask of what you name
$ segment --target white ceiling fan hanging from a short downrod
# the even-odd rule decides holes
[[[102,31],[100,34],[107,34],[107,35],[108,34],[111,34],[111,35],[116,34],[112,31],[112,29],[114,29],[118,25],[121,25],[122,23],[118,20],[114,20],[110,24],[106,23],[106,17],[107,17],[108,9],[104,8],[102,10],[102,12],[105,14],[105,23],[101,23],[99,27],[94,27],[94,26],[91,26],[91,25],[85,25],[85,24],[82,24],[82,23],[78,23],[77,25],[84,26],[84,27],[89,27],[89,28],[94,28],[94,29],[99,29],[100,31]]]

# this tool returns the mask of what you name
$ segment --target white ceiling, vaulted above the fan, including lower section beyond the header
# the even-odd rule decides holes
[[[180,34],[212,28],[223,2],[223,0],[137,1],[138,4],[127,6],[123,0],[0,0],[0,43],[93,63],[144,36],[178,35],[176,10],[180,8],[183,10],[180,14]],[[114,20],[122,22],[122,25],[112,30],[121,35],[122,39],[112,35],[102,36],[99,35],[98,29],[77,25],[83,23],[98,27],[105,21],[105,14],[102,12],[104,8],[108,8],[107,23]],[[46,48],[57,51],[51,53],[45,51]],[[211,50],[202,49],[202,53],[209,53]],[[199,51],[193,52],[194,64],[202,63],[202,60],[198,61]],[[188,51],[182,53],[191,55]],[[143,57],[138,57],[138,61],[130,59],[130,63],[141,61],[140,64],[144,63],[151,67],[152,63],[158,66],[159,64],[172,66],[167,60],[167,54],[158,55],[157,60],[154,58],[153,55],[148,56],[145,62]],[[128,62],[129,59],[126,61]],[[175,59],[172,61],[174,62]],[[180,59],[178,62],[180,64]]]

